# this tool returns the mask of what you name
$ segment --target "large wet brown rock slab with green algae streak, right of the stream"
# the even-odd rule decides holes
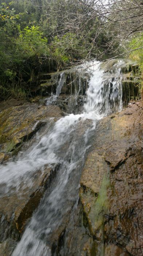
[[[143,255],[142,114],[142,103],[132,102],[97,125],[80,180],[84,226],[97,255]]]

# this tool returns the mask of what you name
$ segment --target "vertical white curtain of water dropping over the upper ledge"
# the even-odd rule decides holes
[[[109,114],[111,111],[122,110],[122,75],[120,68],[116,69],[115,74],[104,74],[95,72],[100,67],[100,63],[90,68],[89,87],[87,89],[87,100],[84,104],[86,112],[95,111],[98,113]]]

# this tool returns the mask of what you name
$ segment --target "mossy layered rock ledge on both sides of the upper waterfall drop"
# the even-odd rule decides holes
[[[60,106],[61,109],[67,113],[71,113],[70,106],[73,104],[73,97],[76,95],[76,110],[75,105],[73,105],[74,113],[77,113],[77,105],[82,105],[84,103],[84,98],[86,97],[86,91],[88,89],[89,82],[89,70],[86,68],[71,67],[70,69],[40,75],[39,79],[47,78],[47,80],[41,80],[40,91],[43,95],[51,95],[56,93],[56,88],[58,81],[60,80],[61,74],[64,74],[64,83],[61,88],[61,95],[64,95],[65,98],[59,97],[56,101],[56,104]],[[100,67],[104,70],[104,78],[110,78],[112,76],[112,82],[115,81],[116,76],[122,77],[122,87],[123,87],[123,103],[127,103],[131,99],[139,98],[139,64],[132,60],[123,60],[123,59],[113,59],[110,61],[105,61],[100,64]],[[83,69],[83,71],[82,71]],[[119,69],[119,74],[117,74],[117,69]],[[44,83],[43,83],[44,82]],[[106,84],[105,87],[108,87]],[[111,84],[110,84],[111,86]],[[40,93],[40,94],[41,94]],[[109,95],[110,97],[110,95]],[[69,105],[69,106],[68,106]]]

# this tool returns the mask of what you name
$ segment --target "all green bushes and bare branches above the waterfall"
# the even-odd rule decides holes
[[[40,72],[122,55],[143,73],[140,0],[0,0],[0,100],[28,97]]]

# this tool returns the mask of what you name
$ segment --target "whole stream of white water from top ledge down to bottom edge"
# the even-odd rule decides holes
[[[113,76],[107,78],[100,69],[100,63],[94,64],[88,69],[91,74],[83,113],[60,118],[52,130],[22,157],[1,166],[0,183],[4,186],[1,186],[0,192],[3,195],[11,187],[18,190],[21,181],[30,187],[35,170],[44,170],[45,165],[60,163],[49,191],[33,214],[12,256],[56,255],[51,251],[52,241],[56,239],[58,230],[62,226],[65,228],[68,213],[78,199],[81,170],[91,146],[90,138],[95,132],[96,121],[109,113],[111,106],[116,110],[122,108],[119,73],[114,74],[114,79]],[[63,81],[62,73],[56,96],[60,94]]]

